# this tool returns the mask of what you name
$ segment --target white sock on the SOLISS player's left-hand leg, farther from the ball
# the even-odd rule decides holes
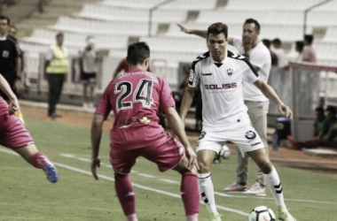
[[[206,208],[209,213],[216,212],[216,200],[214,197],[214,187],[212,179],[210,178],[210,172],[199,173],[199,187],[200,194],[203,202],[205,202]]]

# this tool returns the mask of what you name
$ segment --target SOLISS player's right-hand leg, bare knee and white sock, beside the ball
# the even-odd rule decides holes
[[[283,196],[283,188],[278,177],[278,171],[271,164],[267,151],[263,149],[255,149],[247,152],[252,157],[255,163],[263,171],[264,179],[271,194],[274,196],[275,202],[278,205],[278,218],[283,221],[294,221],[294,217],[286,210],[286,203]]]

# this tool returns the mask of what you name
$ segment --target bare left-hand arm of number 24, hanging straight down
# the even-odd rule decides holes
[[[91,122],[91,173],[98,179],[96,168],[100,166],[99,144],[102,137],[104,116],[94,114]]]

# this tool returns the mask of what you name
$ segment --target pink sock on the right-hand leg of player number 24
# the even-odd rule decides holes
[[[186,173],[182,176],[180,192],[184,203],[186,218],[198,215],[200,210],[200,194],[198,187],[198,176],[193,173]],[[197,216],[198,218],[198,216]],[[194,219],[190,219],[194,220]],[[198,220],[198,219],[196,219]]]

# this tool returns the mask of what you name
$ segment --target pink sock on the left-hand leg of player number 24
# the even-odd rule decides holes
[[[136,197],[131,181],[129,180],[129,175],[116,173],[114,175],[114,188],[121,203],[121,209],[123,210],[124,215],[126,217],[130,215],[136,216]],[[132,220],[137,220],[137,217]]]

